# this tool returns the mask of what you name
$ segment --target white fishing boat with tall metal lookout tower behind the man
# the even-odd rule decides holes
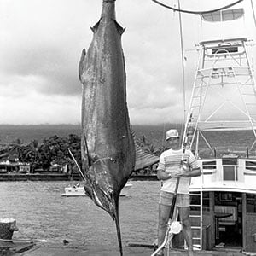
[[[256,252],[256,87],[247,44],[247,38],[200,43],[186,123],[201,165],[201,177],[189,186],[199,250]]]

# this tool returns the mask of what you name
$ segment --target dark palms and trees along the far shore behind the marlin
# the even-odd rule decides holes
[[[136,138],[136,140],[137,144],[147,154],[159,156],[166,149],[165,147],[156,148],[144,135],[141,138]],[[1,156],[6,159],[6,156],[9,155],[9,160],[12,157],[14,160],[18,158],[21,162],[28,162],[32,166],[32,172],[35,169],[49,170],[54,165],[67,165],[72,172],[78,172],[68,148],[81,168],[80,147],[80,137],[75,134],[69,134],[67,137],[54,135],[44,138],[41,143],[38,140],[32,140],[30,143],[23,144],[19,139],[10,144],[9,147],[1,150],[0,159],[2,158]],[[148,169],[150,168],[148,167]]]

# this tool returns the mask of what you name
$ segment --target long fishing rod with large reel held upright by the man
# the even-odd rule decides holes
[[[183,136],[183,143],[182,143],[183,144],[183,154],[182,154],[182,159],[180,161],[180,166],[181,166],[181,168],[184,168],[184,169],[187,168],[187,164],[188,164],[187,160],[184,159],[184,156],[186,153],[186,148],[188,146],[189,134],[190,134],[190,128],[191,128],[190,125],[192,123],[192,119],[193,119],[193,111],[191,111],[191,113],[189,115],[189,121],[185,127],[184,136]],[[172,239],[173,234],[178,234],[181,230],[181,229],[177,228],[176,215],[173,214],[174,210],[175,210],[175,205],[176,205],[177,189],[178,189],[178,185],[179,185],[179,180],[180,180],[180,177],[177,177],[176,186],[175,186],[175,190],[174,190],[174,194],[173,194],[173,198],[172,198],[172,206],[170,208],[170,213],[169,213],[169,222],[167,225],[165,240],[160,245],[160,247],[158,247],[158,249],[156,251],[154,251],[154,253],[151,254],[151,256],[156,255],[157,253],[160,252],[161,249],[166,247],[167,243]]]

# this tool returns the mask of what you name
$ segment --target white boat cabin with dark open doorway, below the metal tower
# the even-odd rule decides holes
[[[193,227],[200,226],[200,218],[192,216],[202,214],[203,247],[256,252],[256,159],[232,154],[200,162],[202,175],[191,180],[190,210]]]

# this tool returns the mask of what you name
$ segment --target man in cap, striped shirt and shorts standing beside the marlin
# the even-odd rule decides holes
[[[179,177],[176,206],[183,224],[183,236],[189,247],[189,256],[192,256],[192,233],[189,223],[189,177],[200,176],[201,170],[198,161],[195,160],[195,156],[190,150],[186,150],[183,155],[177,130],[166,131],[166,142],[170,145],[171,149],[164,151],[160,155],[160,162],[157,168],[157,177],[163,182],[159,201],[158,246],[160,247],[165,240],[172,198],[177,177]],[[189,168],[183,168],[181,160],[185,160]],[[163,250],[158,255],[164,255]]]

